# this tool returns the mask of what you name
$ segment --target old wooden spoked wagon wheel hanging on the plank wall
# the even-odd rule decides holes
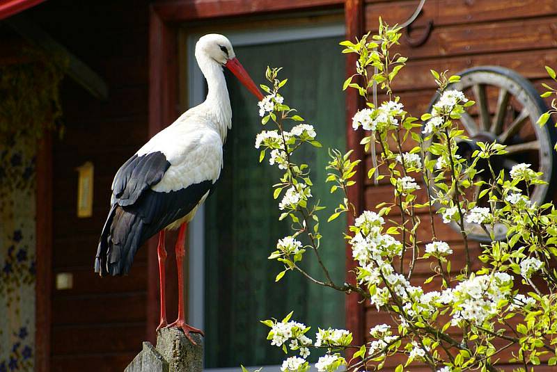
[[[557,134],[552,122],[544,127],[536,124],[540,115],[547,111],[538,91],[530,81],[503,67],[474,67],[459,75],[461,81],[450,85],[448,89],[461,90],[466,97],[476,101],[476,105],[460,119],[462,129],[470,139],[458,143],[457,152],[465,159],[470,159],[474,150],[479,149],[477,142],[496,141],[507,145],[508,154],[492,159],[496,174],[502,169],[508,175],[513,165],[529,163],[532,169],[543,172],[543,179],[548,182],[530,188],[532,202],[539,205],[551,200],[557,181],[557,171],[553,169],[553,146]],[[433,97],[427,112],[432,111],[438,99],[438,94]],[[480,177],[488,176],[487,170],[480,173]],[[523,192],[526,192],[523,187]],[[479,193],[480,190],[476,188],[470,197],[478,205],[486,206],[487,196],[478,200]],[[460,231],[456,223],[453,223],[453,227]],[[470,238],[478,241],[491,240],[480,225],[466,223],[466,231]],[[496,240],[505,238],[505,234],[505,226],[494,227]]]

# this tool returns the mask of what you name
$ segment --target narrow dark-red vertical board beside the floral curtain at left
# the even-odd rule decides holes
[[[35,368],[50,371],[50,322],[52,293],[52,136],[38,144],[36,163],[36,333]]]

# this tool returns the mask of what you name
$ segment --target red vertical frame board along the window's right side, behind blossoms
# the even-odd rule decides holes
[[[360,37],[363,34],[363,1],[362,0],[346,0],[345,1],[345,22],[346,22],[346,38],[348,40],[354,40],[356,37]],[[346,60],[346,75],[351,76],[354,74],[356,64],[356,54],[347,54]],[[363,159],[363,147],[360,145],[360,140],[363,136],[362,131],[354,131],[352,129],[352,116],[361,106],[361,98],[357,94],[356,90],[350,89],[346,91],[346,139],[347,139],[347,149],[353,149],[352,160]],[[354,176],[354,181],[356,184],[348,189],[348,197],[354,203],[356,208],[356,213],[359,213],[363,209],[363,182],[364,182],[364,171],[363,163],[361,163],[357,168],[357,173]],[[354,224],[354,218],[350,213],[348,213],[347,218],[348,225]],[[352,248],[350,245],[346,245],[346,270],[347,277],[346,281],[351,284],[356,284],[356,277],[352,272],[355,267],[354,259],[352,259]],[[354,337],[354,343],[356,345],[361,345],[364,341],[364,309],[363,305],[359,302],[361,298],[356,293],[352,293],[350,296],[346,297],[345,309],[346,309],[346,327],[352,331]],[[352,357],[349,352],[348,357]]]

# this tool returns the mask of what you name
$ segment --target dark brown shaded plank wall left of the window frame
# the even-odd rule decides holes
[[[26,12],[108,83],[100,102],[66,78],[65,135],[54,141],[50,371],[123,371],[146,339],[147,252],[127,277],[93,273],[113,175],[148,137],[147,1],[48,1]],[[77,166],[95,165],[93,217],[77,218]]]

